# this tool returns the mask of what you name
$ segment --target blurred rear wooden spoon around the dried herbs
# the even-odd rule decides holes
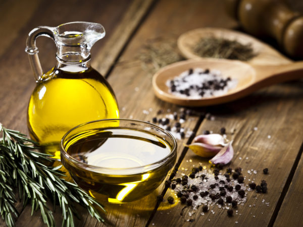
[[[292,61],[272,48],[270,45],[261,42],[260,40],[244,34],[224,28],[197,28],[183,33],[178,38],[178,48],[181,54],[186,59],[204,59],[192,50],[201,38],[215,37],[229,40],[237,40],[243,45],[251,44],[252,49],[257,55],[251,60],[247,61],[249,64],[256,65],[280,65],[289,64]]]

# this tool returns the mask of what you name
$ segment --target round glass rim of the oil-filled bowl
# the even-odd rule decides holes
[[[172,145],[172,149],[171,152],[165,156],[164,158],[147,164],[147,165],[141,165],[141,166],[135,166],[135,167],[126,167],[126,168],[111,168],[111,167],[100,167],[100,166],[95,166],[95,165],[89,165],[86,164],[84,162],[78,161],[77,159],[75,159],[74,157],[72,157],[70,154],[67,153],[67,151],[65,150],[65,144],[64,144],[64,140],[66,139],[66,137],[73,132],[76,129],[79,129],[83,126],[89,125],[89,124],[93,124],[93,123],[98,123],[98,122],[110,122],[110,121],[122,121],[122,122],[129,122],[131,123],[140,123],[140,124],[144,124],[146,126],[150,126],[158,131],[161,131],[162,133],[166,134],[171,140],[172,140],[172,144],[169,143],[167,140],[165,140],[164,138],[162,138],[163,140],[165,140],[167,143],[169,143],[170,145]],[[107,128],[107,127],[105,127]],[[100,128],[96,128],[96,129],[102,129],[102,127]],[[153,135],[155,135],[153,133]],[[66,141],[65,141],[66,142]],[[99,174],[109,174],[109,175],[132,175],[132,174],[138,174],[138,173],[144,173],[144,172],[148,172],[151,171],[159,166],[164,165],[165,163],[169,162],[169,160],[171,158],[173,158],[176,153],[177,153],[177,141],[175,139],[175,137],[167,130],[149,123],[149,122],[144,122],[144,121],[140,121],[140,120],[133,120],[133,119],[102,119],[102,120],[96,120],[96,121],[90,121],[90,122],[86,122],[83,124],[80,124],[72,129],[70,129],[61,139],[61,143],[60,143],[60,154],[61,156],[64,155],[65,158],[67,158],[70,162],[72,162],[73,164],[84,168],[88,171],[92,171],[94,173],[99,173]],[[61,157],[61,161],[63,160],[63,158]],[[117,173],[116,173],[117,172]]]

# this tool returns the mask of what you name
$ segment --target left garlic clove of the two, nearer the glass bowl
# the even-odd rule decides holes
[[[213,157],[225,146],[225,139],[220,134],[199,135],[193,143],[184,145],[201,157]]]

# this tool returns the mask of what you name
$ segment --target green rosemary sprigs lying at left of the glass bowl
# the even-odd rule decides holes
[[[0,210],[8,226],[15,225],[18,211],[14,189],[19,190],[19,197],[25,206],[31,203],[32,213],[40,209],[42,219],[48,226],[55,226],[54,216],[48,207],[47,198],[56,201],[62,209],[62,226],[74,226],[73,216],[77,214],[76,203],[86,207],[90,215],[98,221],[104,219],[93,205],[104,208],[77,185],[62,177],[62,166],[47,166],[53,160],[49,155],[35,151],[36,143],[18,131],[6,129],[0,123]],[[104,210],[105,211],[105,210]]]

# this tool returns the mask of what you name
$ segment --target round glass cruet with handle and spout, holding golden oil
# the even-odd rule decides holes
[[[57,65],[43,73],[35,40],[52,38]],[[114,92],[105,78],[90,66],[92,45],[105,36],[97,23],[71,22],[58,27],[39,26],[27,38],[25,51],[36,79],[28,104],[30,137],[43,152],[60,159],[60,141],[73,127],[99,119],[119,118]]]

